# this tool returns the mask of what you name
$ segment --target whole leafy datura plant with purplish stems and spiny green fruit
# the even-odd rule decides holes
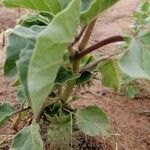
[[[103,86],[116,92],[120,90],[124,74],[150,80],[148,1],[134,13],[130,33],[109,37],[87,47],[97,18],[118,1],[3,1],[6,7],[29,9],[9,33],[6,47],[4,76],[14,79],[21,107],[16,110],[8,103],[0,104],[0,127],[14,114],[19,116],[15,126],[22,119],[28,120],[14,137],[11,150],[45,149],[41,126],[46,126],[46,139],[51,140],[54,149],[57,146],[71,149],[79,131],[88,136],[112,134],[102,109],[93,105],[73,108],[72,101],[77,100],[77,91],[94,79],[99,78]],[[97,52],[115,42],[122,44],[119,53]]]

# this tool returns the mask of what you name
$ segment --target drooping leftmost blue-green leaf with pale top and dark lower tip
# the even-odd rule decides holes
[[[20,52],[26,49],[29,42],[33,42],[33,39],[35,42],[36,35],[43,28],[44,27],[36,25],[31,28],[16,26],[11,31],[6,49],[6,61],[4,64],[5,77],[13,77],[17,74],[16,61],[20,58]]]

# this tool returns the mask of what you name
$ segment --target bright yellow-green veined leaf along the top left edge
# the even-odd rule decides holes
[[[22,7],[36,11],[48,11],[53,14],[61,11],[57,0],[4,0],[3,3],[7,7]]]

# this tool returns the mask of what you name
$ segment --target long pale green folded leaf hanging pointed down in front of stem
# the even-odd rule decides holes
[[[79,14],[80,0],[72,0],[37,38],[28,73],[29,92],[35,117],[51,92],[65,49],[73,41],[79,24]]]

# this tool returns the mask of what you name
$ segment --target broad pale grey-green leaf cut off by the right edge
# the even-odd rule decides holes
[[[119,66],[133,78],[150,80],[150,33],[131,38],[127,51],[121,56]]]

